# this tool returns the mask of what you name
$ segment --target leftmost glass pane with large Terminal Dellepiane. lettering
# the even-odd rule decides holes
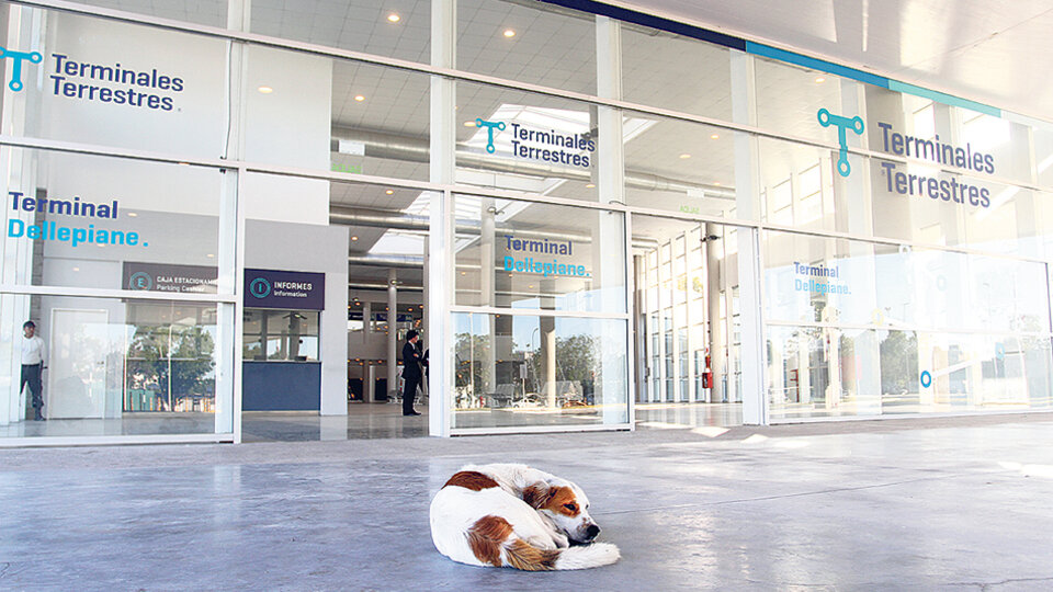
[[[2,277],[215,294],[229,177],[218,169],[0,147]]]

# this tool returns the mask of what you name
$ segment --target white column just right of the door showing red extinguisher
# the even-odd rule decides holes
[[[756,125],[757,104],[754,58],[732,49],[732,118],[736,123]],[[735,133],[736,216],[759,220],[760,171],[757,138]],[[738,235],[738,286],[743,319],[743,423],[768,423],[768,397],[765,388],[765,327],[761,315],[760,242],[752,229],[740,228]]]

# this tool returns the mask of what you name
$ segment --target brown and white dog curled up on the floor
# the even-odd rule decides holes
[[[581,488],[525,465],[468,465],[431,502],[435,548],[471,566],[542,571],[618,561],[618,547],[593,543],[599,532]]]

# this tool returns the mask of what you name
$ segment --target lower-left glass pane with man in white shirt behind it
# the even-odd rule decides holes
[[[229,432],[220,309],[132,298],[0,296],[0,434]],[[229,314],[229,312],[227,312]],[[33,323],[33,333],[23,325]],[[38,339],[39,365],[23,346]],[[228,339],[228,338],[227,338]],[[30,360],[29,362],[34,362]]]

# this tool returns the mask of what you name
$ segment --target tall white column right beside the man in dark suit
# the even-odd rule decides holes
[[[456,0],[431,0],[431,65],[456,67]],[[456,86],[453,80],[431,78],[431,167],[432,183],[453,184],[454,105]],[[456,261],[453,251],[453,196],[448,192],[431,194],[431,231],[428,234],[429,285],[427,295],[428,334],[431,341],[431,376],[428,389],[434,394],[428,401],[428,431],[433,436],[449,436],[453,420],[453,304]]]

